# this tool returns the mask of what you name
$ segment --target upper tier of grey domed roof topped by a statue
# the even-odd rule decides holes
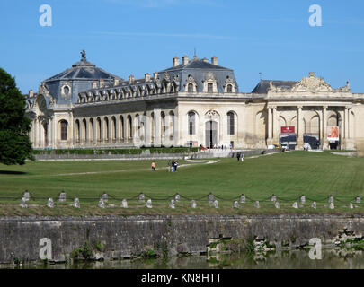
[[[81,60],[72,65],[71,68],[56,74],[44,82],[55,80],[100,80],[100,79],[114,79],[118,76],[108,73],[101,68],[96,67],[93,63],[86,60],[84,51],[81,52]]]

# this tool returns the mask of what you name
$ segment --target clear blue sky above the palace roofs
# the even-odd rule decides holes
[[[41,4],[52,26],[41,27]],[[309,7],[322,7],[311,27]],[[361,0],[1,0],[0,67],[22,92],[80,58],[128,78],[172,65],[174,56],[218,57],[240,91],[263,79],[300,80],[315,72],[334,88],[364,92]]]

